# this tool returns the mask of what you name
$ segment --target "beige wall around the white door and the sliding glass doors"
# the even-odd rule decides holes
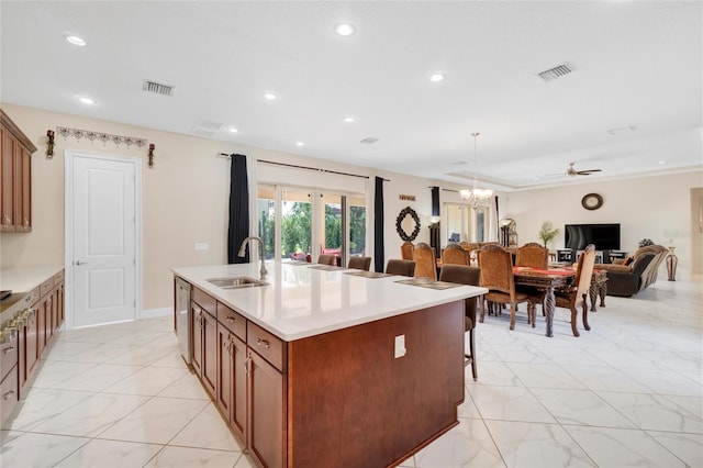
[[[107,122],[79,115],[2,104],[3,110],[38,148],[32,156],[31,233],[0,234],[0,267],[64,265],[64,151],[77,149],[97,154],[141,157],[142,165],[142,308],[168,308],[172,303],[170,268],[175,266],[226,263],[227,207],[230,163],[219,153],[242,153],[255,159],[324,167],[331,170],[370,176],[367,179],[345,178],[331,174],[298,169],[261,169],[263,181],[301,187],[345,188],[366,192],[372,208],[373,176],[368,168],[343,165],[303,156],[214,142],[134,125]],[[55,156],[47,159],[46,131],[57,126],[90,130],[116,135],[146,138],[156,145],[154,168],[146,166],[146,148],[116,147],[112,143],[90,143],[74,137],[56,136]],[[258,165],[261,167],[263,165]],[[395,216],[411,205],[421,215],[420,239],[428,241],[427,216],[431,211],[432,180],[391,172],[378,172],[386,182],[386,258],[398,257],[400,237],[395,234]],[[361,182],[359,182],[361,180]],[[398,194],[415,194],[416,202],[403,202]],[[370,219],[372,220],[372,210]],[[370,226],[372,229],[372,224]],[[208,250],[194,250],[196,243],[209,244]],[[369,242],[372,246],[372,237]],[[69,259],[70,260],[70,259]]]

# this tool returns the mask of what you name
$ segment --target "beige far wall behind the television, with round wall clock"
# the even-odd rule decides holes
[[[684,172],[644,177],[610,182],[589,182],[543,190],[526,190],[505,196],[501,216],[515,220],[520,244],[540,242],[542,223],[551,221],[560,233],[550,248],[563,247],[563,225],[581,223],[620,223],[621,248],[634,252],[637,243],[650,238],[666,247],[676,246],[679,257],[677,278],[691,272],[690,190],[703,186],[703,175]],[[603,207],[589,211],[581,198],[595,192],[603,197]],[[667,278],[661,265],[658,279]]]

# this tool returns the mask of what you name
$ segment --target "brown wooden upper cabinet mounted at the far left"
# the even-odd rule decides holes
[[[0,109],[0,231],[32,231],[32,144]]]

